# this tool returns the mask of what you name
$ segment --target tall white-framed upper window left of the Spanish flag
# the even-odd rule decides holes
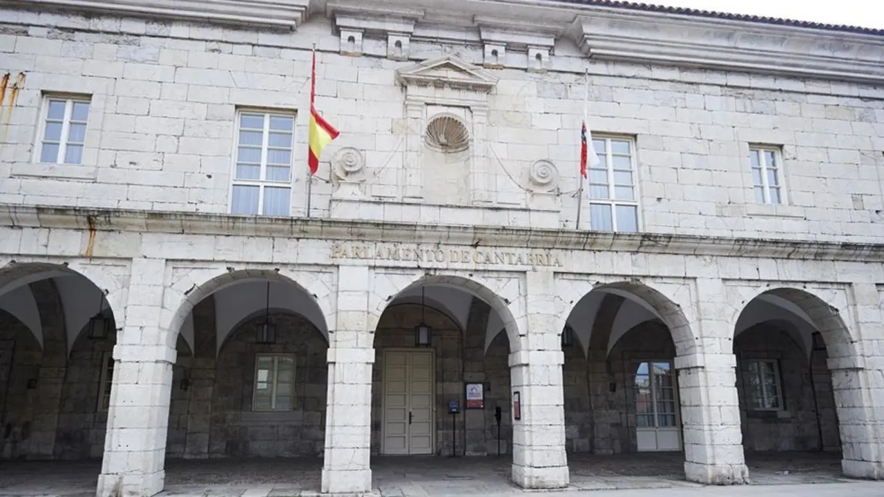
[[[231,214],[290,215],[294,113],[240,111]]]

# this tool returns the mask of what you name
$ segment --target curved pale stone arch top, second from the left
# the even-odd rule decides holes
[[[326,342],[329,340],[329,333],[332,333],[329,323],[335,323],[337,312],[334,310],[334,287],[330,282],[333,275],[329,272],[289,271],[280,268],[233,270],[221,265],[212,268],[173,268],[171,272],[172,282],[165,288],[160,322],[161,328],[169,331],[166,333],[166,345],[170,348],[175,347],[182,325],[198,302],[210,294],[246,281],[277,282],[298,290],[308,297],[307,302],[314,307],[314,324],[324,334]],[[304,314],[298,310],[295,312]],[[194,348],[193,343],[188,343],[188,346]],[[219,346],[218,343],[217,347]]]

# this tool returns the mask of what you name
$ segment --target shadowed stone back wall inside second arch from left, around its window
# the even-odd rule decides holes
[[[207,309],[214,307],[201,302],[194,308],[197,355],[182,357],[187,349],[179,348],[166,454],[189,458],[322,455],[328,378],[328,344],[322,333],[303,317],[274,312],[276,343],[259,344],[257,326],[263,316],[253,317],[232,331],[216,359],[215,329],[202,321]],[[209,341],[212,347],[205,347]],[[252,409],[256,354],[295,356],[292,410]],[[189,381],[187,391],[180,388],[182,378]]]

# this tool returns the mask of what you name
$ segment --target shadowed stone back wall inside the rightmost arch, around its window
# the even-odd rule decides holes
[[[811,361],[788,333],[769,324],[753,326],[738,335],[734,350],[745,450],[808,451],[839,447],[832,377],[825,367],[825,350],[815,351]],[[780,411],[749,409],[748,362],[753,359],[779,362],[784,403]]]

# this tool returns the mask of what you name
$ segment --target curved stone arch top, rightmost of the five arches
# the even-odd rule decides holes
[[[752,301],[773,297],[773,302],[785,301],[791,304],[781,305],[784,310],[796,313],[805,322],[810,320],[810,324],[822,335],[830,359],[857,357],[856,338],[850,333],[850,328],[844,322],[839,310],[839,307],[846,308],[848,305],[846,295],[842,292],[834,290],[829,295],[831,297],[829,300],[835,302],[834,304],[809,290],[795,287],[764,287],[752,289],[751,292],[747,295],[748,298],[743,300],[743,305],[732,308],[728,316],[729,323],[739,323],[743,311]]]

